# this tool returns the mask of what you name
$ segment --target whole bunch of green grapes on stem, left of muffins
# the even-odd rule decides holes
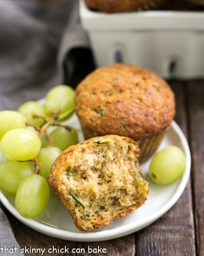
[[[50,168],[63,150],[78,143],[76,130],[62,123],[73,113],[74,90],[67,85],[48,91],[44,106],[28,101],[17,111],[0,111],[0,188],[15,196],[23,217],[34,218],[45,210]]]

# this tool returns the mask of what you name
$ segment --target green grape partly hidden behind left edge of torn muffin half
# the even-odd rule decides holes
[[[40,171],[38,174],[42,175],[47,180],[51,166],[61,152],[60,148],[53,146],[42,148],[37,155],[37,160],[40,163]]]

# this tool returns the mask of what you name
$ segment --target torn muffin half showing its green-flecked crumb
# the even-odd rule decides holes
[[[144,204],[149,188],[138,156],[135,141],[107,135],[70,146],[57,157],[48,183],[79,230],[101,228]]]

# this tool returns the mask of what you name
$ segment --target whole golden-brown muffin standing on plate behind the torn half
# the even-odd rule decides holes
[[[149,69],[116,63],[98,68],[75,91],[75,112],[86,139],[106,134],[130,137],[140,163],[157,150],[175,115],[174,94]]]

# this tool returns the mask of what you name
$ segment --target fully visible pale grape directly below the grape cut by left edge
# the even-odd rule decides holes
[[[4,134],[0,141],[2,155],[11,160],[27,161],[37,156],[41,140],[35,132],[17,128]]]

